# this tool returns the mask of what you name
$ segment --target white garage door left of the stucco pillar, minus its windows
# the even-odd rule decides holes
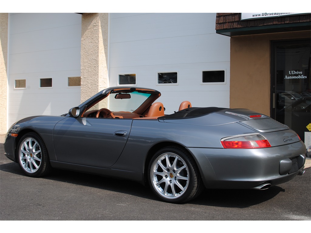
[[[9,14],[9,126],[34,115],[61,115],[80,104],[80,87],[68,77],[81,76],[81,15],[74,13]],[[40,88],[52,78],[52,88]],[[14,89],[26,79],[26,89]]]

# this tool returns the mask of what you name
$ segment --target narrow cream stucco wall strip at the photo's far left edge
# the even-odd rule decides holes
[[[0,13],[0,135],[7,132],[8,13]]]

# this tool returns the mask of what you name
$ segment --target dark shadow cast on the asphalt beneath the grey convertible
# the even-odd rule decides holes
[[[25,176],[19,166],[14,162],[2,164],[0,170],[18,176]],[[158,201],[149,187],[129,180],[118,180],[110,177],[59,169],[53,169],[48,176],[39,179],[66,182]],[[284,191],[285,190],[279,186],[272,186],[268,190],[205,189],[200,196],[188,203],[216,207],[247,208],[272,199],[280,192]]]

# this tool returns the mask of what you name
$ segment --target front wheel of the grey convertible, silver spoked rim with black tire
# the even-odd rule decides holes
[[[27,176],[41,177],[51,170],[47,148],[36,133],[27,133],[21,137],[17,156],[18,164]]]

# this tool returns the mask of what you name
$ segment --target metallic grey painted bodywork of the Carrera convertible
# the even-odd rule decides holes
[[[92,98],[87,101],[91,102]],[[247,118],[249,114],[258,113],[228,109],[200,117],[159,120],[43,116],[19,121],[9,133],[37,132],[46,144],[52,167],[141,183],[151,156],[167,145],[189,151],[207,188],[252,188],[292,179],[304,168],[305,159],[305,146],[292,130],[280,126],[273,132],[260,132],[271,148],[222,147],[222,138],[259,132],[241,123],[260,121]],[[116,132],[126,134],[120,137]],[[15,162],[16,140],[7,134],[5,143],[6,156]],[[299,158],[298,171],[280,175],[281,161],[293,157]]]

